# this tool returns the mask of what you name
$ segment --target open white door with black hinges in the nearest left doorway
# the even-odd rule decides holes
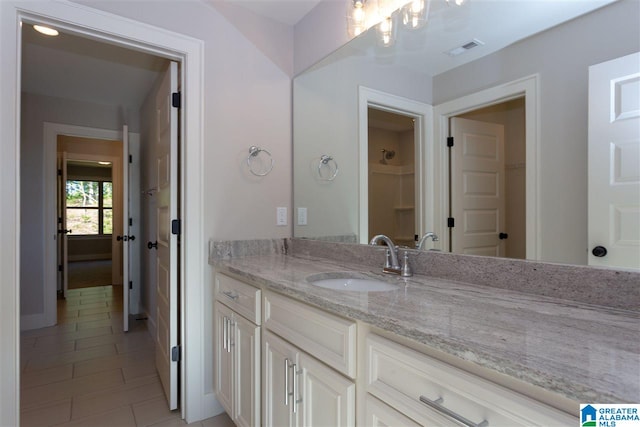
[[[178,64],[171,62],[156,95],[156,204],[158,252],[156,282],[156,368],[169,409],[178,407]],[[174,233],[175,232],[175,233]]]

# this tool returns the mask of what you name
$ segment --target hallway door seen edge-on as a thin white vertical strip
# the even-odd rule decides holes
[[[129,127],[122,127],[122,329],[129,331]]]

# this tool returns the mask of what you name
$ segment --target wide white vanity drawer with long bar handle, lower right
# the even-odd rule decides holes
[[[438,425],[460,425],[447,410],[475,424],[486,421],[487,426],[564,426],[579,421],[377,335],[367,336],[366,353],[367,391],[421,424],[440,419]],[[435,401],[440,408],[424,401]]]

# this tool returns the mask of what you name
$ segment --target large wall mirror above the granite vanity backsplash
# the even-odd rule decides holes
[[[411,246],[433,231],[427,248],[588,264],[589,67],[640,50],[639,16],[635,0],[431,0],[392,46],[374,28],[352,39],[294,79],[294,237]],[[484,139],[450,157],[447,137],[467,134]],[[458,194],[496,187],[459,172],[489,152],[499,219]],[[450,217],[505,238],[465,242]]]

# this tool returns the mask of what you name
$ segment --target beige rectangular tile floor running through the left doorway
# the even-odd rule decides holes
[[[21,337],[21,425],[184,426],[169,411],[145,321],[122,332],[122,288],[74,289],[58,325]],[[231,427],[226,414],[189,425]]]

